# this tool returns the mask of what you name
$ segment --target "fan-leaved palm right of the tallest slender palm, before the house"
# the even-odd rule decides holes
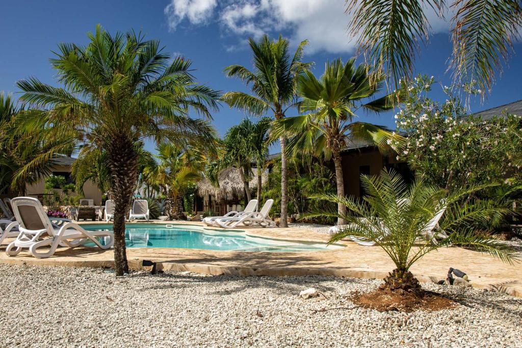
[[[293,157],[304,151],[316,154],[323,152],[326,158],[333,158],[339,198],[345,196],[341,151],[348,144],[370,141],[379,150],[387,152],[391,149],[388,141],[400,139],[386,127],[353,121],[354,112],[360,108],[381,112],[397,104],[397,93],[362,102],[379,91],[383,80],[384,75],[373,73],[364,64],[355,67],[355,58],[349,59],[346,64],[340,58],[331,64],[327,62],[321,79],[306,70],[299,77],[298,92],[303,98],[301,111],[311,113],[274,122],[274,137],[281,134],[294,136],[289,143]],[[345,211],[344,206],[338,206],[339,215]],[[338,224],[343,223],[339,218]]]

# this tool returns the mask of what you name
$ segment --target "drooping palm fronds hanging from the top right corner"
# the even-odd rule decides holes
[[[512,41],[520,38],[522,5],[519,0],[460,1],[357,1],[347,0],[349,27],[359,36],[359,50],[367,61],[387,71],[399,85],[399,79],[411,76],[418,42],[427,42],[430,23],[427,11],[441,17],[448,8],[454,10],[452,20],[453,55],[456,82],[477,80],[482,93],[491,91],[495,70],[502,70],[512,49]]]

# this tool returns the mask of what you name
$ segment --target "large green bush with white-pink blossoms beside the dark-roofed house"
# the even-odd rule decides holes
[[[424,174],[432,184],[445,188],[517,181],[522,158],[521,118],[497,115],[481,119],[469,115],[459,97],[444,87],[444,103],[427,97],[433,77],[418,76],[406,86],[406,103],[395,115],[397,130],[405,131],[403,143],[392,143],[398,160]],[[473,83],[465,92],[480,93]],[[521,115],[522,116],[522,115]]]

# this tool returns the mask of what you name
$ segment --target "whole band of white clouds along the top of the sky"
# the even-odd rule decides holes
[[[173,30],[184,19],[198,25],[215,20],[223,32],[244,42],[263,33],[290,33],[292,44],[308,39],[307,52],[353,52],[356,40],[348,31],[350,18],[345,13],[345,0],[171,0],[165,8],[169,27]],[[432,31],[447,32],[447,22],[433,10],[426,11]],[[236,45],[227,47],[235,50]]]

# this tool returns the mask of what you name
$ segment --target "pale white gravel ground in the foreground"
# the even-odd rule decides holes
[[[435,284],[452,310],[381,313],[345,296],[379,280],[229,277],[188,272],[122,278],[101,269],[0,265],[0,346],[520,346],[522,298]],[[328,299],[302,299],[315,287]],[[317,311],[317,309],[331,309]]]

